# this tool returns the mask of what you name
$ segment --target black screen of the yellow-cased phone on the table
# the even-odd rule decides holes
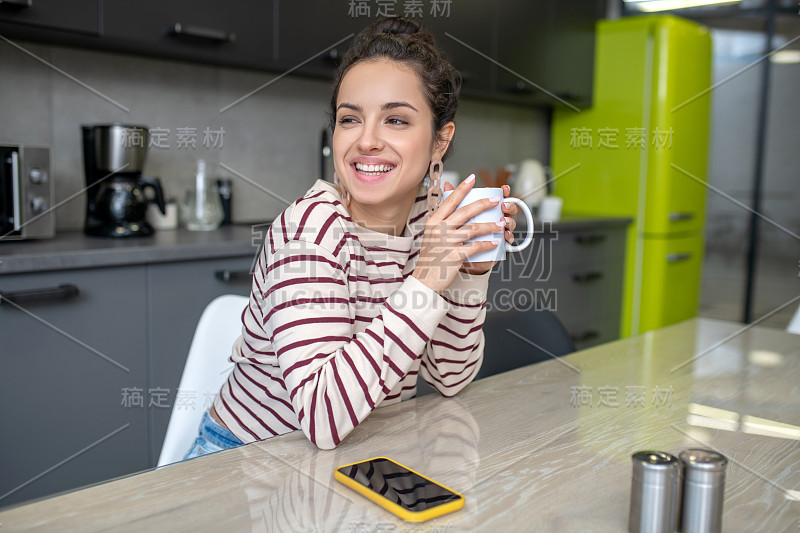
[[[388,459],[343,466],[339,472],[409,511],[425,511],[461,499],[458,494]]]

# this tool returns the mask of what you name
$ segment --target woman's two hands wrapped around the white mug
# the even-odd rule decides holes
[[[465,260],[478,252],[491,250],[498,246],[499,241],[465,241],[478,235],[497,233],[498,228],[513,230],[514,221],[509,217],[497,222],[469,223],[467,221],[478,213],[495,207],[501,198],[482,199],[458,208],[458,205],[472,189],[475,184],[475,176],[472,175],[456,189],[449,184],[445,185],[445,190],[454,191],[448,196],[436,211],[428,218],[425,223],[425,233],[422,236],[422,246],[420,248],[419,259],[412,276],[422,283],[442,293],[458,275],[465,265],[469,270],[465,272],[480,274],[488,271],[494,266],[493,261],[481,263],[465,263]],[[503,187],[503,195],[508,196],[510,189]],[[514,204],[503,206],[503,212],[516,214],[517,207]],[[510,231],[505,233],[506,240],[513,241]]]

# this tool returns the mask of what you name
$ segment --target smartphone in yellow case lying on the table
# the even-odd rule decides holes
[[[386,457],[340,466],[333,476],[408,522],[424,522],[464,507],[461,494]]]

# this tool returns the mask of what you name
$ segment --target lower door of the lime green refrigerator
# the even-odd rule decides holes
[[[702,255],[702,236],[645,239],[640,331],[697,314]]]

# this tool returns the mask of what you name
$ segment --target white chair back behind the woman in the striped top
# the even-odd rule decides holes
[[[179,391],[193,393],[194,405],[176,402],[173,406],[158,466],[183,460],[197,437],[200,420],[208,408],[206,398],[219,391],[233,367],[228,358],[231,346],[242,333],[242,310],[247,302],[246,296],[220,296],[200,315],[178,386]]]

